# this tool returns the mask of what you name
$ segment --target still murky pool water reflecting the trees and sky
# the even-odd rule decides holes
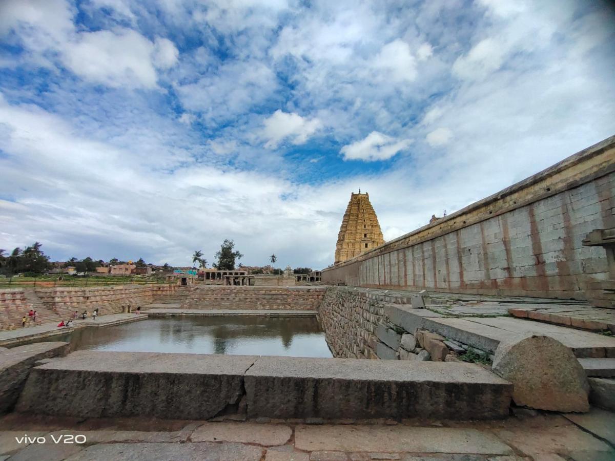
[[[151,318],[81,328],[52,341],[69,341],[73,350],[331,357],[315,317]]]

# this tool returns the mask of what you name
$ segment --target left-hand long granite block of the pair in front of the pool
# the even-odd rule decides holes
[[[208,419],[236,406],[254,356],[77,351],[33,368],[17,411]]]

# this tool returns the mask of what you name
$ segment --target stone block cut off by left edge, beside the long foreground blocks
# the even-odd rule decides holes
[[[0,352],[0,414],[15,405],[36,362],[66,355],[69,348],[68,342],[38,342]]]

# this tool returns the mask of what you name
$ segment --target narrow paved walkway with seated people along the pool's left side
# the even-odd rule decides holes
[[[25,328],[17,328],[6,331],[0,331],[0,346],[15,345],[18,343],[31,341],[42,337],[52,337],[58,334],[71,333],[77,328],[85,328],[86,326],[109,326],[129,321],[145,320],[146,315],[136,313],[111,313],[109,315],[101,315],[93,320],[92,317],[86,320],[74,320],[73,328],[58,328],[57,323],[43,323],[42,325],[26,326]]]

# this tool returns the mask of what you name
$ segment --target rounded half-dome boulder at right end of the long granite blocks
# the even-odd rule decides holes
[[[527,334],[502,342],[493,371],[514,385],[517,405],[551,411],[588,411],[585,371],[565,345],[549,336]]]

